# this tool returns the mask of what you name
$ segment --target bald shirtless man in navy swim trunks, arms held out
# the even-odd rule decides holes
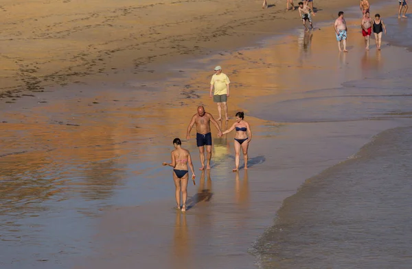
[[[211,159],[211,133],[210,133],[210,123],[218,129],[218,137],[222,136],[222,131],[218,125],[218,122],[211,116],[210,113],[205,112],[205,107],[198,106],[198,112],[193,115],[189,126],[187,127],[186,138],[189,140],[190,131],[192,131],[193,125],[196,124],[196,144],[199,149],[199,154],[201,157],[202,167],[199,170],[205,170],[205,146],[207,151],[207,166],[206,169],[210,170],[210,159]]]

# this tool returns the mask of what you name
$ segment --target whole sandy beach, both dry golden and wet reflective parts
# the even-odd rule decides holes
[[[342,7],[318,3],[319,21]],[[310,36],[293,30],[297,12],[285,13],[283,1],[267,10],[255,1],[127,0],[1,8],[1,87],[12,91],[1,104],[1,268],[262,268],[251,246],[285,198],[380,131],[411,124],[393,114],[396,101],[334,99],[343,85],[357,89],[411,61],[385,39],[381,52],[365,53],[356,11],[350,53],[338,53],[330,22]],[[253,128],[251,168],[232,173],[233,136],[212,129],[212,170],[196,173],[181,214],[161,162],[197,105],[216,114],[207,97],[216,63],[233,81],[229,123],[244,110]],[[299,103],[306,99],[314,101]],[[183,146],[197,169],[194,141]]]

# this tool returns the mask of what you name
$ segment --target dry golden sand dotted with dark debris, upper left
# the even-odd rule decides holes
[[[271,1],[269,1],[271,2]],[[317,0],[316,21],[358,2]],[[295,3],[297,4],[297,3]],[[299,25],[284,1],[6,0],[2,25],[0,98],[88,81],[174,77],[159,64],[225,53]]]

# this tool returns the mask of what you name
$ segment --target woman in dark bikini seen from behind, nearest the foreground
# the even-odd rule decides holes
[[[172,162],[170,164],[163,162],[163,166],[173,167],[173,180],[176,187],[176,203],[177,208],[182,209],[182,212],[186,211],[186,200],[187,200],[187,179],[189,179],[189,171],[187,170],[187,164],[189,164],[190,170],[192,170],[192,179],[194,183],[194,168],[192,164],[192,158],[190,157],[189,151],[181,148],[181,140],[179,138],[174,138],[173,146],[174,151],[172,151]],[[182,192],[182,202],[181,207],[181,192]]]

